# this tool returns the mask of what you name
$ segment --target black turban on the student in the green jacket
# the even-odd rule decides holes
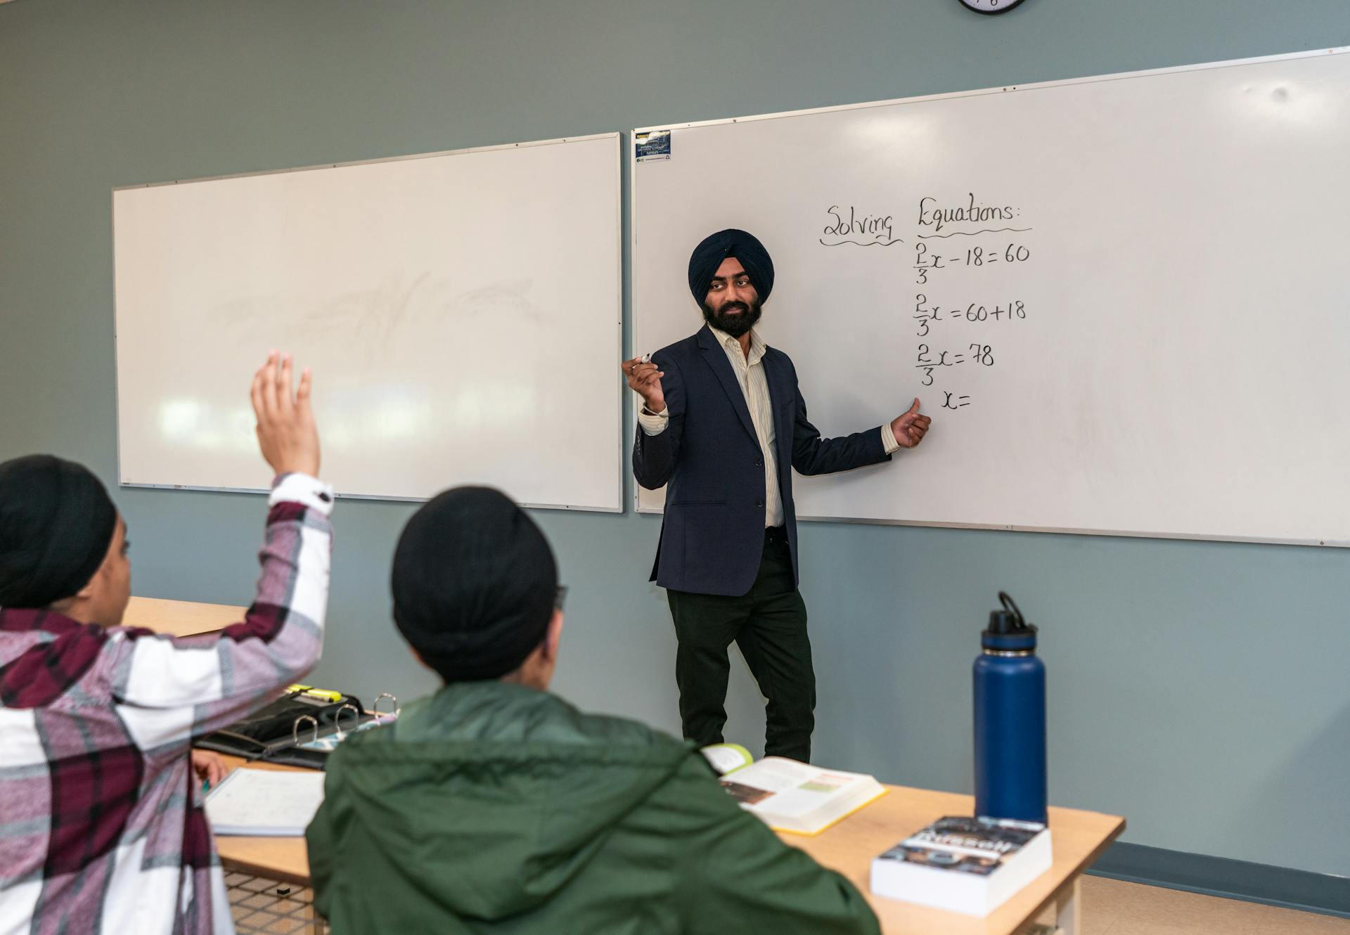
[[[501,491],[456,487],[404,526],[394,550],[394,622],[450,681],[500,679],[548,633],[558,565],[548,540]]]

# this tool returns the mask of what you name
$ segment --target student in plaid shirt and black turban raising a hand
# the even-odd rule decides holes
[[[234,932],[189,752],[319,660],[332,491],[309,386],[293,397],[275,353],[254,376],[277,478],[256,596],[220,633],[122,626],[130,542],[108,491],[50,455],[0,464],[0,932]],[[217,758],[197,766],[219,778]]]

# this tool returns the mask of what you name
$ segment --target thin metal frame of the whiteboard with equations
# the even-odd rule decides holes
[[[919,104],[925,101],[945,101],[957,100],[961,97],[983,97],[987,94],[1008,94],[1022,90],[1042,90],[1046,88],[1064,88],[1071,85],[1085,85],[1085,84],[1099,84],[1103,81],[1126,81],[1130,78],[1145,78],[1160,74],[1180,74],[1184,72],[1208,72],[1214,69],[1227,69],[1239,67],[1243,65],[1260,65],[1264,62],[1284,62],[1295,61],[1300,58],[1322,58],[1326,55],[1346,55],[1350,54],[1350,46],[1334,46],[1331,49],[1310,49],[1307,51],[1299,53],[1284,53],[1280,55],[1257,55],[1254,58],[1233,58],[1222,62],[1202,62],[1199,65],[1174,65],[1170,67],[1161,69],[1146,69],[1142,72],[1118,72],[1114,74],[1099,74],[1089,76],[1085,78],[1061,78],[1058,81],[1038,81],[1026,85],[1006,85],[1002,88],[980,88],[976,90],[957,90],[948,92],[942,94],[923,94],[919,97],[894,97],[884,101],[865,101],[861,104],[836,104],[832,107],[815,107],[807,108],[805,111],[779,111],[778,113],[757,113],[745,117],[722,117],[720,120],[695,120],[691,123],[664,123],[652,124],[649,127],[634,127],[629,135],[628,143],[628,171],[629,171],[629,251],[633,258],[632,267],[632,300],[637,294],[639,283],[639,268],[637,268],[637,134],[645,134],[659,130],[691,130],[694,127],[717,127],[721,124],[733,123],[752,123],[757,120],[779,120],[782,117],[803,117],[813,113],[837,113],[840,111],[865,111],[873,107],[894,107],[896,104]],[[674,139],[671,140],[674,146]],[[634,321],[636,324],[636,321]],[[636,339],[636,335],[634,335]],[[636,347],[636,343],[634,343]],[[633,412],[633,421],[637,421],[637,402],[636,399],[629,401],[629,406]],[[636,513],[664,515],[664,509],[644,507],[640,502],[641,488],[634,483],[633,486],[633,510]],[[848,523],[868,523],[876,526],[933,526],[938,529],[995,529],[1008,533],[1065,533],[1072,536],[1118,536],[1127,538],[1170,538],[1170,540],[1191,540],[1191,541],[1204,541],[1204,542],[1249,542],[1249,544],[1266,544],[1266,545],[1322,545],[1331,548],[1350,548],[1350,540],[1336,540],[1336,538],[1258,538],[1258,537],[1245,537],[1245,536],[1204,536],[1200,533],[1157,533],[1157,532],[1141,532],[1141,530],[1123,530],[1123,529],[1065,529],[1060,526],[1017,526],[1006,523],[976,523],[976,522],[921,522],[917,519],[860,519],[857,517],[798,517],[803,522],[848,522]]]

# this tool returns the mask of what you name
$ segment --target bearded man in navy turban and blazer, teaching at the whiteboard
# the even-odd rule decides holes
[[[929,428],[919,401],[888,425],[822,438],[806,418],[791,359],[755,331],[774,290],[774,262],[745,231],[720,231],[688,260],[707,322],[622,363],[643,397],[633,475],[668,484],[652,580],[666,588],[679,650],[675,681],[684,737],[722,741],[726,648],[741,648],[765,708],[767,756],[807,761],[815,673],[796,590],[792,468],[832,474],[891,460]]]

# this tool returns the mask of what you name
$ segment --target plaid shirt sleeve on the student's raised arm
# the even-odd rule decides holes
[[[112,696],[140,749],[234,723],[319,661],[332,555],[332,490],[282,475],[269,498],[256,596],[242,623],[167,637],[119,630],[105,653]]]

